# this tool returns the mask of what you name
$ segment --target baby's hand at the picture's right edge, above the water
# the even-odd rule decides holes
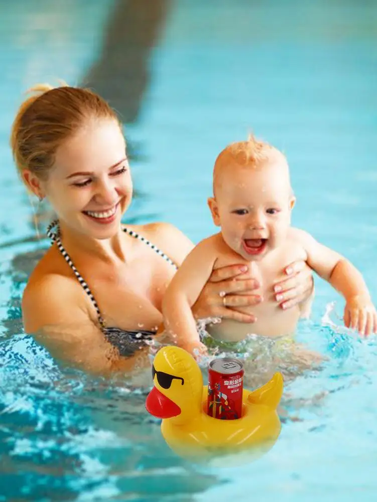
[[[357,329],[360,335],[369,336],[377,332],[377,312],[369,298],[352,296],[344,309],[344,324]]]

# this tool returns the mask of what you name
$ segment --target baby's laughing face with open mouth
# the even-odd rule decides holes
[[[211,206],[226,243],[245,260],[260,260],[284,243],[294,197],[284,161],[260,168],[229,166]]]

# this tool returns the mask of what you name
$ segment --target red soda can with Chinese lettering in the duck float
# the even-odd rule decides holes
[[[232,357],[214,359],[208,367],[207,414],[222,420],[242,416],[243,364]]]

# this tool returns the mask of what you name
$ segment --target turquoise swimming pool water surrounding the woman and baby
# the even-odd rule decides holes
[[[128,50],[146,4],[2,7],[0,500],[370,500],[377,343],[331,327],[328,306],[337,300],[341,314],[342,302],[323,282],[300,336],[329,360],[286,389],[290,419],[273,449],[237,468],[177,459],[134,383],[58,367],[22,331],[20,296],[48,242],[33,239],[8,135],[21,93],[55,77],[92,82],[124,116],[139,190],[130,217],[170,221],[195,241],[213,231],[206,198],[214,158],[252,129],[288,155],[294,224],[352,260],[377,297],[377,7],[156,0],[149,38]]]

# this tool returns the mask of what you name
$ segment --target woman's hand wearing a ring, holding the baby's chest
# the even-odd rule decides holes
[[[245,294],[258,289],[260,285],[256,279],[237,280],[246,272],[245,265],[230,265],[214,270],[193,305],[195,318],[223,317],[239,322],[255,322],[255,317],[243,312],[242,308],[261,302],[260,295]]]

